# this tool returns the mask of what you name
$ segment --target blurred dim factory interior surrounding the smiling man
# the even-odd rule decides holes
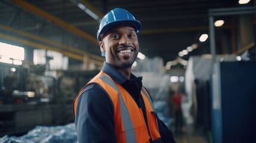
[[[78,142],[113,8],[142,23],[132,73],[177,143],[254,141],[256,0],[0,0],[0,142]]]

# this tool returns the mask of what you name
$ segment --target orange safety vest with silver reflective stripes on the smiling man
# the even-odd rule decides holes
[[[100,85],[107,92],[113,102],[117,142],[149,142],[150,136],[152,137],[153,141],[161,138],[153,102],[144,87],[141,89],[141,95],[146,106],[150,136],[147,131],[147,126],[144,121],[141,108],[138,108],[138,105],[133,100],[131,95],[129,95],[129,93],[125,91],[121,85],[115,83],[111,77],[103,71],[100,71],[100,73],[98,73],[97,76],[87,83],[87,85],[90,83],[98,83],[98,85]],[[79,92],[73,104],[74,117],[76,114],[78,98],[83,89]]]

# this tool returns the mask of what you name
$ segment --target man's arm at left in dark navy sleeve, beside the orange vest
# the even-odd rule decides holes
[[[87,86],[78,99],[75,126],[78,142],[116,142],[115,120],[109,95],[98,85]]]

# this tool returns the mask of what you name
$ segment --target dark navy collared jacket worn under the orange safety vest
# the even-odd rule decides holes
[[[140,94],[142,77],[135,77],[131,74],[131,78],[127,80],[115,67],[106,62],[104,62],[102,70],[132,95],[138,107],[143,110],[147,125],[145,106]],[[85,87],[76,107],[75,126],[78,133],[78,142],[115,143],[114,117],[112,101],[104,89],[96,83]],[[158,126],[163,142],[175,142],[171,130],[159,119]]]

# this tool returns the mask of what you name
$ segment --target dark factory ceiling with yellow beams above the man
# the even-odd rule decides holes
[[[79,3],[86,8],[82,10]],[[197,48],[182,57],[184,60],[210,53],[209,41],[199,42],[199,36],[209,33],[210,9],[253,5],[253,1],[239,5],[238,1],[229,0],[1,0],[0,40],[58,51],[75,60],[82,61],[87,55],[100,63],[104,59],[96,39],[99,19],[119,7],[130,11],[143,24],[140,52],[149,58],[161,57],[166,63],[193,44]],[[87,8],[98,18],[85,13]],[[231,37],[232,18],[225,20],[217,30],[226,31]]]

